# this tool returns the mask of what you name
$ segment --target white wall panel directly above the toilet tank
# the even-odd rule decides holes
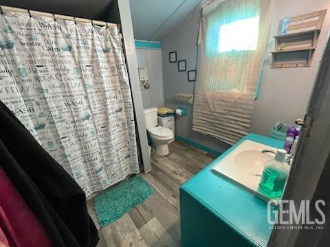
[[[160,49],[136,49],[137,66],[147,67],[150,89],[141,90],[143,107],[164,106],[162,51]]]

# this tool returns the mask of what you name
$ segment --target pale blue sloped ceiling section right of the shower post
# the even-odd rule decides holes
[[[202,0],[130,0],[134,37],[162,41]]]

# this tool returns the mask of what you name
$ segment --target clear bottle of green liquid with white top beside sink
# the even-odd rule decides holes
[[[279,149],[274,159],[265,162],[263,175],[259,183],[259,191],[267,198],[282,196],[290,167],[285,162],[287,151]]]

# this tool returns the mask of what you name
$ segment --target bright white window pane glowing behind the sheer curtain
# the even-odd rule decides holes
[[[218,52],[256,50],[258,34],[259,16],[221,25]]]

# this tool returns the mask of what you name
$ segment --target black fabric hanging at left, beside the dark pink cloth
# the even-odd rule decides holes
[[[96,246],[85,193],[0,102],[0,164],[53,246]],[[1,188],[0,188],[1,189]]]

